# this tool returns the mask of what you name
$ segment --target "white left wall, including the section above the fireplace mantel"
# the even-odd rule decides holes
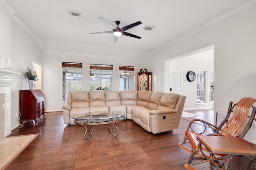
[[[42,52],[36,39],[12,19],[12,14],[0,4],[0,57],[14,60],[12,72],[21,73],[13,77],[11,86],[11,129],[19,125],[19,90],[24,90],[24,71],[33,68],[33,62],[42,63]]]

